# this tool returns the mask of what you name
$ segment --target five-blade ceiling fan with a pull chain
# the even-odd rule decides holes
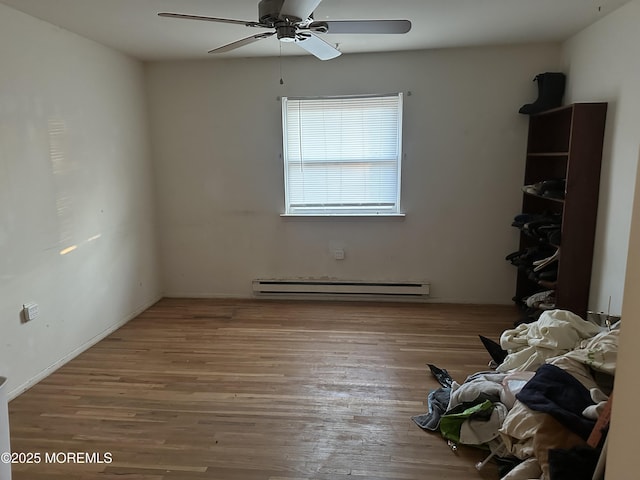
[[[229,18],[187,15],[182,13],[158,13],[161,17],[203,20],[206,22],[232,23],[252,28],[273,29],[214,48],[209,53],[224,53],[251,43],[277,35],[281,42],[295,42],[320,60],[329,60],[340,55],[340,50],[324,41],[318,34],[325,33],[407,33],[411,30],[409,20],[330,20],[315,21],[313,11],[322,0],[260,0],[258,21],[232,20]]]

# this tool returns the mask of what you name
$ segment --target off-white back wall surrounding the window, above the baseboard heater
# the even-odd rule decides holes
[[[432,282],[438,301],[510,303],[533,77],[559,46],[148,66],[161,262],[171,296],[250,295],[257,277]],[[279,96],[405,97],[398,219],[284,219]],[[345,260],[330,255],[343,247]]]

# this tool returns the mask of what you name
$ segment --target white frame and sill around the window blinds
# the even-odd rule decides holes
[[[290,179],[289,179],[289,155],[288,155],[288,116],[287,105],[289,101],[304,102],[304,101],[317,101],[328,100],[336,101],[345,99],[347,101],[371,100],[377,98],[393,97],[397,99],[397,121],[395,124],[395,140],[396,140],[396,155],[395,158],[390,160],[395,167],[395,182],[391,182],[390,185],[395,186],[395,198],[393,203],[388,202],[390,206],[383,207],[381,205],[375,206],[373,203],[368,206],[361,205],[345,205],[345,206],[322,206],[316,205],[313,207],[298,206],[292,208],[291,195],[290,195]],[[401,211],[401,179],[402,179],[402,157],[403,157],[403,93],[387,93],[387,94],[369,94],[369,95],[339,95],[339,96],[315,96],[315,97],[281,97],[282,108],[282,165],[284,169],[284,213],[281,216],[285,217],[404,217],[405,214]],[[344,157],[343,157],[344,158]],[[344,161],[341,159],[334,159],[333,162]],[[373,159],[368,159],[368,163],[375,162]],[[300,160],[298,162],[304,162]],[[330,161],[323,160],[318,162],[320,164],[328,164]]]

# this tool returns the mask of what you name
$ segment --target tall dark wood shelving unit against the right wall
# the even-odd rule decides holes
[[[586,315],[598,211],[606,103],[575,103],[529,119],[524,184],[566,179],[564,200],[523,193],[522,213],[562,215],[556,308]],[[536,240],[521,234],[520,249]],[[547,288],[518,273],[516,298]]]

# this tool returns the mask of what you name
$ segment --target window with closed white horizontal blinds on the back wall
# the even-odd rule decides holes
[[[282,99],[285,215],[400,213],[402,94]]]

